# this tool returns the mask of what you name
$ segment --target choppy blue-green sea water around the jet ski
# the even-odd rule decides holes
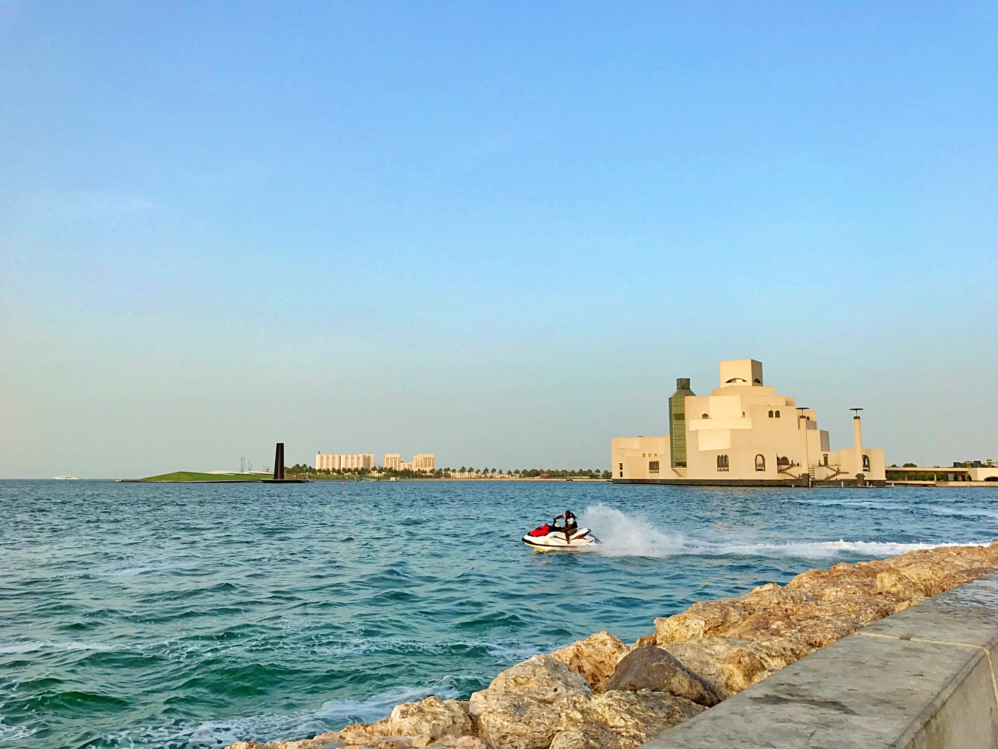
[[[604,545],[519,538],[572,508]],[[467,696],[809,567],[998,538],[998,489],[0,481],[0,747],[221,747]]]

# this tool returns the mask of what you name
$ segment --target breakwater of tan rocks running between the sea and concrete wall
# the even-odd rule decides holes
[[[427,697],[384,720],[228,749],[633,749],[860,627],[998,569],[998,541],[830,569],[695,603],[631,645],[607,632],[506,669],[468,701]]]

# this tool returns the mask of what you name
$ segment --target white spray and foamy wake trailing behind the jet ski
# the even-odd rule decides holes
[[[640,515],[632,516],[605,504],[587,507],[581,520],[593,528],[602,544],[596,549],[603,556],[746,556],[798,557],[819,559],[854,554],[895,556],[908,551],[954,546],[955,543],[902,543],[899,541],[781,541],[747,542],[733,539],[706,540],[684,533],[665,533]]]

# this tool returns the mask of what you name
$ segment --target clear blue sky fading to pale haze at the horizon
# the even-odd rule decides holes
[[[752,358],[998,458],[998,5],[0,0],[0,477],[609,467]]]

